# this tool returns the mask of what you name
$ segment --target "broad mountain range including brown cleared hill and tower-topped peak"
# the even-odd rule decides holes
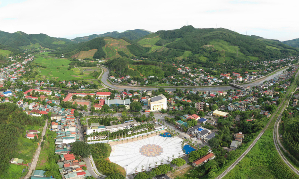
[[[278,40],[246,36],[223,28],[195,29],[190,25],[176,30],[159,30],[135,41],[124,37],[94,38],[49,54],[78,59],[144,57],[164,62],[183,60],[195,64],[217,62],[236,66],[244,61],[299,55],[299,49]]]

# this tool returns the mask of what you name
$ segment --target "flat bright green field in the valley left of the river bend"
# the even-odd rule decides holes
[[[80,75],[80,71],[76,68],[68,70],[70,61],[67,59],[56,59],[51,57],[36,56],[34,61],[36,64],[46,66],[47,68],[36,68],[38,72],[37,79],[53,79],[53,80],[84,80],[93,79],[88,74]]]

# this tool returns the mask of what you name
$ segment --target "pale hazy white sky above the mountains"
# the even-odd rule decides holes
[[[281,41],[299,38],[298,1],[0,0],[0,30],[75,38],[108,31],[223,27]]]

